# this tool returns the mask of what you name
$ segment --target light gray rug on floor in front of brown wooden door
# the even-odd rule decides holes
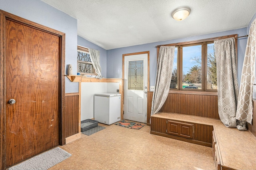
[[[12,166],[8,170],[47,170],[70,156],[70,153],[57,147]]]

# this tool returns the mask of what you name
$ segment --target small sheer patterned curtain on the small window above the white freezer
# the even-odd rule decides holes
[[[98,77],[95,78],[101,78],[101,67],[100,67],[100,51],[89,49],[92,66],[95,70],[95,72],[98,74]]]

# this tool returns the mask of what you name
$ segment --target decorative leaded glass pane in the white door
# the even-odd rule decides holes
[[[128,90],[144,90],[143,88],[143,60],[129,61]]]

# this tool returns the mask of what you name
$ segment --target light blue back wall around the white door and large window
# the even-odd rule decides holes
[[[171,43],[180,43],[186,41],[194,41],[200,39],[207,39],[212,37],[219,37],[224,35],[238,34],[238,36],[246,35],[246,27],[242,29],[235,29],[230,31],[211,33],[206,35],[199,35],[181,39],[173,39],[168,41],[161,41],[156,43],[148,43],[143,45],[136,45],[131,47],[124,47],[112,49],[107,51],[107,78],[122,78],[122,55],[128,53],[137,53],[142,51],[150,51],[150,86],[155,85],[156,81],[156,45],[164,45]],[[125,40],[124,40],[125,41]],[[242,64],[244,61],[244,53],[246,48],[247,38],[238,39],[238,82],[240,84]]]

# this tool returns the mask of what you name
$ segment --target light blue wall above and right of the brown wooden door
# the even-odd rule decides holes
[[[65,64],[72,64],[73,69],[76,70],[76,19],[40,0],[0,0],[0,10],[64,32],[66,34]],[[72,83],[66,78],[65,85],[66,93],[78,92],[78,83]]]

